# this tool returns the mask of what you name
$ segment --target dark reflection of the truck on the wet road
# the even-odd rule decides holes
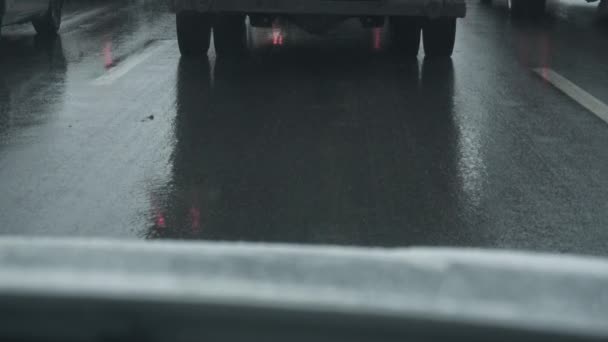
[[[452,62],[306,51],[218,60],[213,77],[180,62],[172,179],[147,237],[474,241],[458,212]]]

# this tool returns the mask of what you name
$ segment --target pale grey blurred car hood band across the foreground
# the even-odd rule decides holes
[[[608,336],[608,262],[452,248],[0,239],[0,297],[417,317]]]

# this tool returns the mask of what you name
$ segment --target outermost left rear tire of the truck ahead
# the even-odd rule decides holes
[[[177,43],[184,57],[207,55],[211,40],[211,17],[195,11],[181,11],[177,14]]]

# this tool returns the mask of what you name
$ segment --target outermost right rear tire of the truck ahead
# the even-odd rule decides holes
[[[456,18],[427,20],[422,28],[422,40],[426,57],[451,57],[456,40]]]

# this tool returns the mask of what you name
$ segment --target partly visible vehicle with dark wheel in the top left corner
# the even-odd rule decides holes
[[[63,0],[0,0],[0,27],[31,21],[38,34],[54,35],[62,7]]]

